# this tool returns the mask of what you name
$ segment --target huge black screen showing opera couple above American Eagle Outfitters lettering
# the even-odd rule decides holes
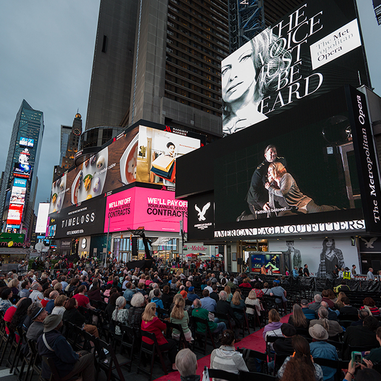
[[[179,173],[196,166],[200,181],[180,176],[176,194],[189,239],[381,232],[371,139],[364,94],[347,87],[192,152]]]

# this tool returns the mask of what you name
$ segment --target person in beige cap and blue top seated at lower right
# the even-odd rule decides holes
[[[310,336],[313,338],[313,342],[310,343],[310,350],[312,357],[317,359],[337,360],[336,348],[328,344],[328,332],[320,324],[315,324],[309,328]],[[321,366],[323,370],[324,381],[333,381],[336,370]]]

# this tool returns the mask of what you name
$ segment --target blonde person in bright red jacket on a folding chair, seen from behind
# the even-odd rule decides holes
[[[176,371],[175,360],[177,355],[177,345],[175,340],[166,339],[164,337],[163,330],[166,328],[167,325],[156,317],[156,304],[148,303],[141,316],[141,330],[155,334],[160,350],[168,351],[168,356],[172,364],[172,370]],[[153,341],[148,337],[142,336],[142,340],[144,342],[144,346],[147,348],[153,344]]]

